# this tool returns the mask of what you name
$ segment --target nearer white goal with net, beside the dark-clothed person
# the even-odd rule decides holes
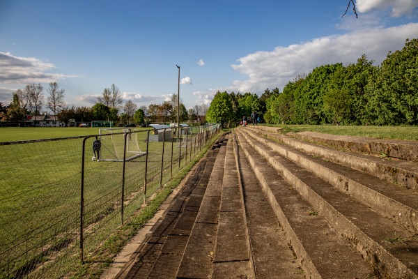
[[[100,135],[100,160],[123,161],[126,134],[126,158],[133,160],[144,156],[146,152],[139,147],[139,132],[132,128],[104,128],[99,130]]]

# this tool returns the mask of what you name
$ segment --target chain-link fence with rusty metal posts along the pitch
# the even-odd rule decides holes
[[[219,128],[0,143],[0,278],[64,277]]]

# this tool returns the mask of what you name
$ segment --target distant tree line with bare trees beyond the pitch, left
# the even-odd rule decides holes
[[[65,90],[60,89],[56,82],[49,83],[47,88],[47,100],[43,95],[41,84],[27,84],[26,87],[13,92],[13,101],[10,105],[3,106],[0,103],[0,119],[3,122],[22,123],[26,116],[37,116],[42,114],[42,108],[52,112],[55,119],[63,123],[70,121],[91,122],[114,121],[116,123],[145,122],[176,122],[178,102],[177,95],[173,94],[171,100],[161,104],[151,104],[148,107],[138,107],[132,100],[123,101],[118,86],[112,84],[105,88],[102,95],[96,100],[92,107],[68,107],[65,103]],[[195,105],[186,110],[180,99],[180,121],[197,121],[204,119],[207,105]]]

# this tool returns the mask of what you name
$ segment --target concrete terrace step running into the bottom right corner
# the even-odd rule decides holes
[[[240,135],[248,133],[248,130],[237,129]],[[252,148],[265,157],[326,218],[333,229],[344,236],[348,244],[357,248],[379,276],[418,278],[418,246],[415,234],[297,165],[303,160],[303,156],[295,159],[295,164],[279,156],[268,144],[261,143],[263,140],[259,137],[254,140],[247,136],[246,139]],[[243,135],[242,140],[244,141]],[[286,156],[289,153],[295,155],[297,152],[288,149],[281,152]]]

